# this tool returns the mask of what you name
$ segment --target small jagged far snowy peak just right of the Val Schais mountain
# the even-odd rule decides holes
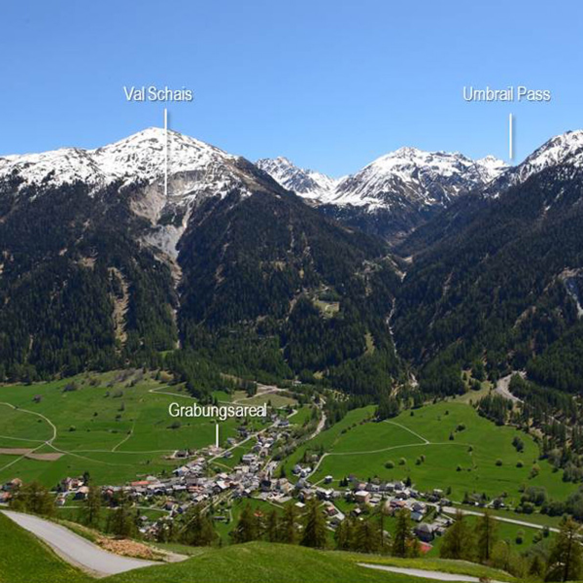
[[[338,184],[338,180],[314,170],[299,168],[283,156],[264,158],[255,164],[284,188],[318,202],[329,202]]]

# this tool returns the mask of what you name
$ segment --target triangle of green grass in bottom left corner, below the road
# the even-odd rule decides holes
[[[0,583],[87,583],[35,536],[0,514]]]

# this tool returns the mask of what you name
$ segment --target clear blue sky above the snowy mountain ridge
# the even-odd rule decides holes
[[[583,5],[550,2],[6,2],[0,154],[96,147],[161,104],[124,85],[194,90],[170,125],[251,160],[331,175],[401,146],[515,158],[583,128]],[[550,89],[542,104],[462,100],[464,85]]]

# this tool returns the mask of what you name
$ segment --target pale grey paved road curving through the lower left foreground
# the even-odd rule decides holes
[[[109,553],[90,543],[89,540],[69,531],[64,526],[43,518],[10,510],[2,510],[2,512],[22,528],[43,539],[63,559],[97,576],[115,575],[140,567],[160,564]]]

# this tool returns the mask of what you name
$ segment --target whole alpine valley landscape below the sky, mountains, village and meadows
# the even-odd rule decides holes
[[[0,393],[2,581],[580,578],[583,131],[1,157]]]

